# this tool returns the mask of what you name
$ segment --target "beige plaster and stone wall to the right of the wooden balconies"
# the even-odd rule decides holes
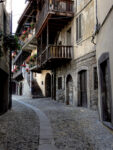
[[[95,4],[93,0],[83,0],[75,2],[74,8],[75,17],[60,32],[58,39],[63,45],[73,46],[73,60],[56,69],[56,99],[66,104],[96,110],[98,106],[96,47],[91,42],[95,32]],[[59,88],[59,84],[62,87]]]

